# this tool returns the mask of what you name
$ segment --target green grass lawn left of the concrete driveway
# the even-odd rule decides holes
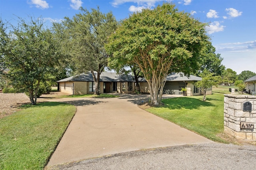
[[[43,169],[75,111],[69,104],[44,102],[0,119],[0,169]]]

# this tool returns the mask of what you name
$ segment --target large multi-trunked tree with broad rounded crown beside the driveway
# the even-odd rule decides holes
[[[159,105],[166,76],[199,70],[200,51],[208,39],[204,23],[165,3],[123,20],[106,48],[113,54],[111,60],[138,65],[148,82],[151,104]]]

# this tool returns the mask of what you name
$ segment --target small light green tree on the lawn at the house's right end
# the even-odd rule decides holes
[[[202,77],[201,81],[195,83],[195,86],[200,88],[201,92],[204,95],[203,101],[206,101],[206,92],[212,86],[218,86],[221,81],[220,76],[214,76],[214,73],[209,70],[204,70],[200,76]]]

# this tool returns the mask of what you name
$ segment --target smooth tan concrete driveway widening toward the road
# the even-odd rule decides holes
[[[136,103],[147,98],[136,96],[50,100],[74,104],[77,111],[47,166],[133,150],[213,143],[140,109]]]

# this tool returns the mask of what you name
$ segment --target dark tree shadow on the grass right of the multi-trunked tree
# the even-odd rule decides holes
[[[200,107],[208,107],[208,106],[215,106],[214,104],[211,104],[207,101],[202,101],[200,99],[195,98],[168,98],[162,100],[162,103],[164,103],[164,106],[158,106],[158,107],[165,107],[169,109],[199,109]]]

